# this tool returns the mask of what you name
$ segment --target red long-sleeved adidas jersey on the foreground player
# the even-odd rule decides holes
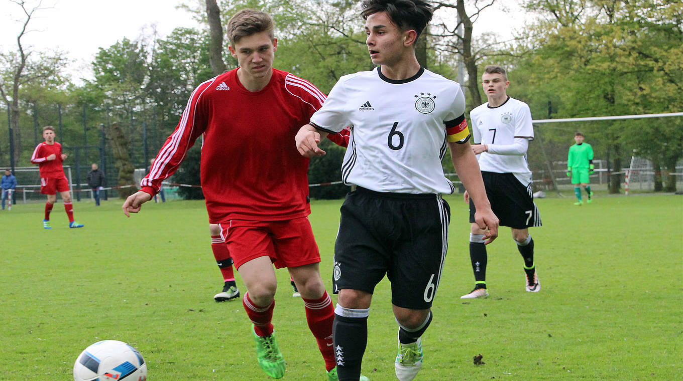
[[[141,181],[142,190],[158,192],[204,134],[200,175],[210,223],[309,215],[309,159],[296,150],[294,136],[325,95],[310,82],[275,69],[264,89],[250,92],[236,73],[231,70],[195,89],[176,131]]]

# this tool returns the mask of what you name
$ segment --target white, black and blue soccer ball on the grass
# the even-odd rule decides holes
[[[74,381],[145,381],[147,365],[140,352],[118,340],[85,348],[74,363]]]

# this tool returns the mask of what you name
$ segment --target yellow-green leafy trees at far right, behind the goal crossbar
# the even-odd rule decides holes
[[[547,16],[529,42],[533,55],[520,62],[531,87],[555,94],[561,117],[645,114],[683,108],[683,10],[665,0],[533,0],[527,7]],[[547,100],[547,98],[546,98]],[[601,125],[594,135],[609,142],[612,168],[632,149],[674,172],[683,157],[680,119]],[[653,144],[656,136],[667,144]],[[611,179],[610,192],[619,192]],[[665,189],[675,189],[668,180]]]

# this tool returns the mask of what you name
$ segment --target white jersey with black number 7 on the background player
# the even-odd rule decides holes
[[[508,97],[498,107],[488,106],[488,102],[477,106],[470,112],[474,144],[507,145],[515,138],[533,140],[533,125],[529,105]],[[477,155],[479,169],[486,172],[514,173],[524,185],[531,183],[531,170],[527,153],[523,155],[497,155],[482,152]]]

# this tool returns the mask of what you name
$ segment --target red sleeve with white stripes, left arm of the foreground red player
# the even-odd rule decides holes
[[[201,83],[193,91],[176,130],[166,139],[156,154],[150,172],[140,181],[141,191],[151,195],[157,194],[161,189],[161,182],[178,170],[187,151],[195,144],[195,140],[204,134],[208,123],[208,108],[202,102],[201,95],[211,88],[216,78]]]

